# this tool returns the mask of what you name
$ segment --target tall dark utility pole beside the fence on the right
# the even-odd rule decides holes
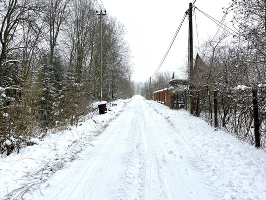
[[[191,80],[193,77],[193,27],[192,27],[192,3],[189,3],[189,113],[193,114],[193,96],[191,93]]]

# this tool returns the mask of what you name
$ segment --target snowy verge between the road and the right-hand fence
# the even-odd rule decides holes
[[[243,88],[243,87],[242,87]],[[186,110],[171,110],[147,101],[176,127],[186,143],[182,156],[190,158],[202,181],[220,194],[216,199],[266,199],[266,152],[222,130],[214,131],[204,120]]]

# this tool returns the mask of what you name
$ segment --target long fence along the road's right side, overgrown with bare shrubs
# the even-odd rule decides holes
[[[266,87],[215,91],[202,87],[190,92],[170,87],[153,93],[155,101],[171,109],[189,110],[189,96],[193,99],[194,115],[266,150]]]

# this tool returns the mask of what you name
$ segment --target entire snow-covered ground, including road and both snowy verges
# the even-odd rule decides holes
[[[112,109],[2,157],[0,199],[266,199],[265,151],[141,96]]]

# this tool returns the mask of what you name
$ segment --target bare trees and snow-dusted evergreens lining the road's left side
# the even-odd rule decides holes
[[[75,124],[97,101],[99,16],[95,0],[0,1],[0,145]],[[124,26],[103,20],[103,99],[134,94]],[[7,145],[7,143],[9,143]]]

